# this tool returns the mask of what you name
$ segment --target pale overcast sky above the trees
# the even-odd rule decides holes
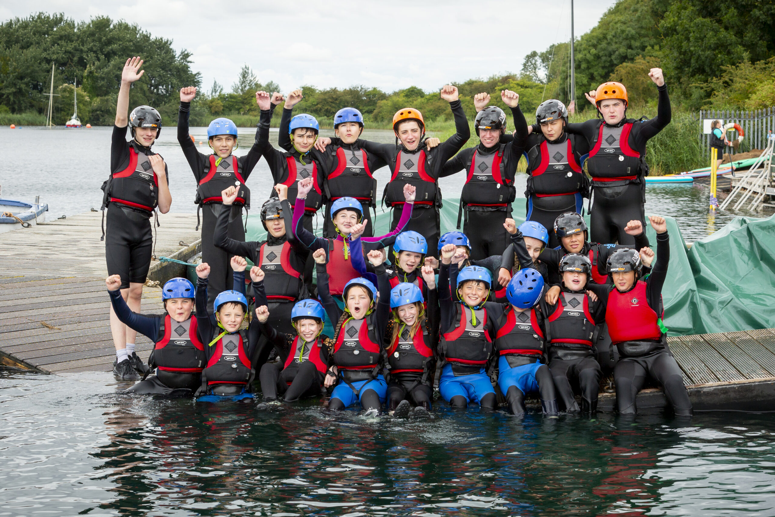
[[[613,4],[575,0],[576,35]],[[38,11],[135,22],[173,40],[176,50],[188,49],[205,89],[217,80],[226,91],[243,64],[284,92],[301,84],[430,91],[449,81],[518,72],[527,53],[570,39],[570,0],[27,0],[2,2],[0,18]]]

